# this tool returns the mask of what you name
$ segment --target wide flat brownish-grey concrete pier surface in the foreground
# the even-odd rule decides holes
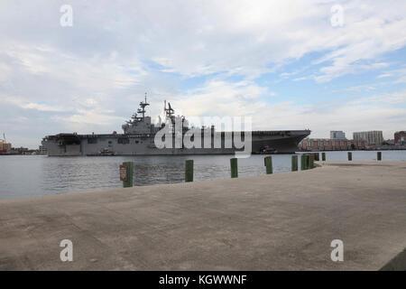
[[[320,164],[1,200],[0,270],[382,268],[406,247],[406,162]],[[72,262],[60,261],[62,239]],[[343,262],[330,258],[333,239],[344,242]]]

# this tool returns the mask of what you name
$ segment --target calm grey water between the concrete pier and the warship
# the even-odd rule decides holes
[[[183,182],[186,159],[194,160],[195,181],[230,177],[231,155],[197,156],[0,156],[0,200],[122,187],[118,166],[134,162],[134,185]],[[238,160],[239,176],[265,174],[264,155]],[[346,160],[346,152],[327,152],[329,161]],[[376,159],[376,152],[353,152],[354,161]],[[383,151],[383,161],[406,160],[406,151]],[[299,158],[300,162],[300,158]],[[290,154],[272,155],[273,172],[291,171]],[[300,163],[299,163],[300,167]]]

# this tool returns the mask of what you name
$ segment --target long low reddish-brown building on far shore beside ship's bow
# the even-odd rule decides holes
[[[305,138],[300,143],[301,151],[349,151],[364,150],[365,141],[330,138]]]

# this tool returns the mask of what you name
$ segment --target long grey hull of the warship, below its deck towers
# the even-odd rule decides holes
[[[251,154],[292,154],[298,150],[300,141],[310,134],[309,130],[254,131],[252,132]],[[211,144],[193,148],[157,148],[153,135],[76,135],[60,134],[44,137],[42,145],[50,156],[85,155],[184,155],[184,154],[235,154],[243,151],[227,148],[224,133],[220,136],[221,145]],[[174,144],[174,141],[173,141]],[[208,147],[207,147],[208,146]],[[175,147],[175,145],[173,145]],[[205,148],[206,147],[206,148]]]

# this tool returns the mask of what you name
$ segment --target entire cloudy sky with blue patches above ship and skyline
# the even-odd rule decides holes
[[[152,118],[166,99],[254,130],[406,130],[404,0],[0,0],[0,35],[14,147],[122,132],[145,92]]]

